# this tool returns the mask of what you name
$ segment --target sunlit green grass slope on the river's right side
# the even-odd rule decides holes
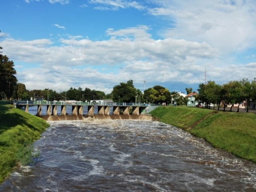
[[[214,147],[256,162],[256,114],[192,107],[158,107],[150,112],[160,122],[187,130]]]

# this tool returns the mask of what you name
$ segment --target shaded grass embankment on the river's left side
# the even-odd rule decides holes
[[[0,183],[19,162],[30,160],[31,144],[48,126],[41,118],[0,104]]]

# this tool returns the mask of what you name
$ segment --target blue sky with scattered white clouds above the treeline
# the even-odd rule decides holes
[[[27,90],[256,78],[255,0],[1,0],[0,30]]]

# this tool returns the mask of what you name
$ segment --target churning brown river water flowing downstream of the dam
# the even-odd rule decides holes
[[[256,164],[160,122],[49,122],[1,192],[251,192]]]

